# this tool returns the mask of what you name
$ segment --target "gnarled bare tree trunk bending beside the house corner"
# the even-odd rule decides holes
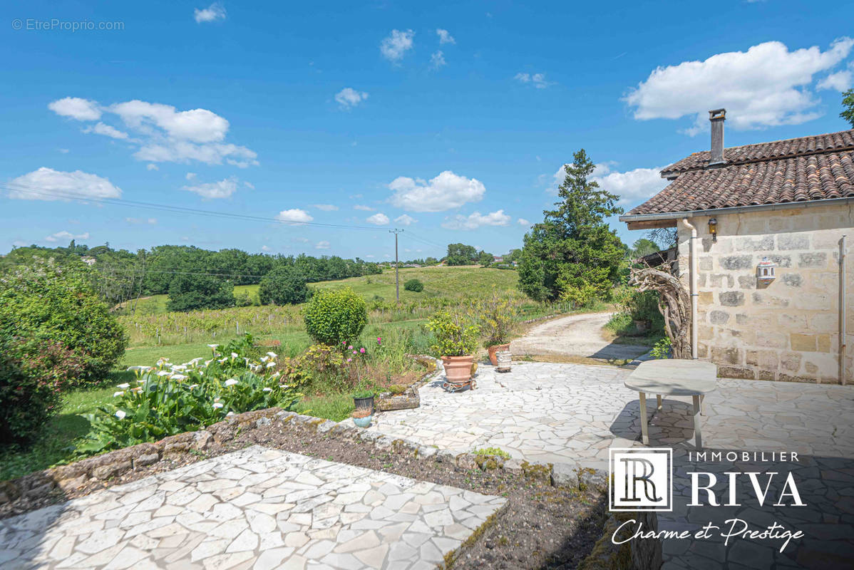
[[[670,337],[673,358],[691,358],[691,295],[676,276],[652,267],[631,270],[629,285],[640,291],[658,291],[658,311]]]

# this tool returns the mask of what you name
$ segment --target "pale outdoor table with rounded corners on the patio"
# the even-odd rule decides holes
[[[662,396],[691,396],[693,398],[694,445],[703,446],[700,431],[700,405],[705,394],[717,388],[717,366],[699,360],[647,360],[641,363],[625,381],[625,386],[640,393],[640,432],[644,445],[649,445],[646,426],[646,393],[658,398],[661,410]]]

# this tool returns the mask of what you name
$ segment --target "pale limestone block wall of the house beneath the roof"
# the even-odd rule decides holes
[[[854,356],[854,205],[794,207],[693,218],[698,236],[699,358],[721,376],[839,383],[839,279],[847,283],[849,384]],[[839,239],[847,235],[846,275]],[[691,233],[679,227],[680,276],[688,285]],[[774,261],[776,278],[757,282],[757,264]]]

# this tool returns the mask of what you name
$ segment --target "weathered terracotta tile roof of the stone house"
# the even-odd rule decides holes
[[[627,215],[854,197],[854,130],[727,148],[721,167],[709,154],[665,168],[676,180]]]

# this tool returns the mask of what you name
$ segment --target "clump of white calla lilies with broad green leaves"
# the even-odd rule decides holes
[[[114,404],[85,416],[91,431],[77,446],[78,453],[90,455],[196,431],[244,411],[292,408],[301,394],[281,383],[280,372],[272,372],[275,354],[253,361],[242,352],[246,342],[238,340],[221,353],[212,345],[213,358],[208,360],[171,364],[161,358],[156,366],[132,366],[136,386],[120,384]]]

